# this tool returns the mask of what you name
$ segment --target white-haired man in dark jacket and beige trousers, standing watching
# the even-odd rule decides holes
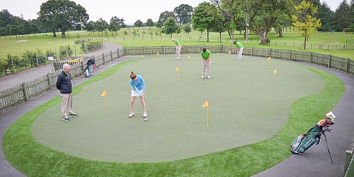
[[[72,111],[72,86],[71,74],[69,72],[70,65],[66,63],[63,65],[63,71],[58,75],[58,80],[56,81],[56,88],[60,90],[60,96],[62,97],[63,121],[70,121],[68,117],[78,116]]]

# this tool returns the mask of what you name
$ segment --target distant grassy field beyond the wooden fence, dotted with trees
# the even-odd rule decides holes
[[[133,30],[137,30],[137,35],[134,37],[132,35]],[[128,35],[123,35],[124,31],[128,33]],[[155,32],[159,31],[157,28],[124,28],[120,29],[117,35],[113,35],[111,33],[108,34],[108,37],[105,34],[98,34],[95,32],[94,34],[83,32],[83,37],[85,39],[90,37],[102,37],[105,42],[110,43],[119,43],[122,46],[159,46],[159,45],[173,45],[170,41],[170,36],[162,34],[161,36],[155,35]],[[152,35],[149,34],[152,32]],[[145,33],[145,34],[144,34]],[[205,34],[205,33],[204,33]],[[209,42],[206,42],[206,35],[200,35],[197,31],[192,31],[189,35],[185,33],[182,34],[173,34],[174,38],[180,40],[182,45],[198,45],[198,44],[208,44],[208,45],[232,45],[232,40],[229,39],[227,33],[222,33],[221,39],[222,43],[218,42],[220,39],[219,33],[210,32],[209,34]],[[57,33],[58,37],[52,37],[51,33],[47,34],[36,34],[34,35],[18,35],[17,39],[15,36],[1,37],[0,38],[0,57],[7,57],[7,53],[11,53],[13,55],[18,55],[24,53],[26,50],[35,51],[36,49],[40,49],[43,52],[51,49],[54,51],[55,49],[58,51],[60,45],[70,45],[70,47],[74,50],[76,47],[76,55],[81,54],[80,45],[74,45],[74,40],[81,38],[81,31],[67,32],[67,38],[61,38],[61,33]],[[276,33],[269,33],[267,36],[270,39],[270,46],[258,46],[260,42],[258,35],[249,35],[249,43],[244,43],[245,46],[257,46],[257,47],[271,47],[271,48],[279,48],[279,49],[291,49],[291,50],[302,50],[303,38],[299,35],[299,32],[287,31],[283,33],[284,37],[277,37]],[[202,38],[200,38],[202,37]],[[239,41],[244,41],[243,35],[240,35],[239,32],[235,32],[234,35]],[[330,48],[340,49],[346,44],[346,39],[350,39],[350,41],[354,41],[353,34],[346,33],[322,33],[316,32],[309,37],[308,42],[306,43],[306,50],[318,52],[318,53],[326,53],[332,54],[344,58],[354,58],[354,50],[320,50],[320,44],[323,45],[322,49],[327,49],[328,45]],[[353,42],[352,42],[353,43]],[[354,45],[352,44],[351,45]],[[312,44],[312,45],[311,45]],[[337,45],[337,46],[336,46]],[[295,46],[295,47],[294,47]],[[312,47],[312,49],[311,49]],[[75,55],[75,53],[73,54]]]

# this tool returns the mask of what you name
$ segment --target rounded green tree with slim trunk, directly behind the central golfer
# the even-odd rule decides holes
[[[207,42],[209,42],[210,30],[219,23],[218,12],[219,10],[214,4],[202,2],[194,9],[192,14],[193,28],[198,31],[206,30]]]

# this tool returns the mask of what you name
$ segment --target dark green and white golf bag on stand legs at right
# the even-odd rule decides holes
[[[324,135],[324,132],[331,132],[332,128],[330,126],[334,124],[334,118],[336,118],[336,116],[331,111],[328,111],[325,119],[320,120],[314,127],[309,129],[306,134],[296,137],[295,140],[291,142],[291,153],[303,154],[308,148],[320,144],[321,136]]]

